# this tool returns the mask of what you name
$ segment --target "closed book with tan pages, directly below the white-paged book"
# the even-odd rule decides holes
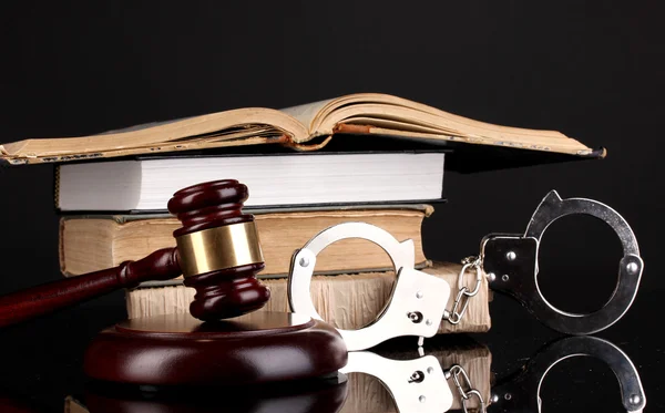
[[[259,277],[285,277],[294,251],[325,228],[358,220],[377,225],[397,239],[412,239],[416,262],[427,265],[422,251],[422,220],[429,205],[336,206],[329,208],[247,209],[254,214],[266,268]],[[173,231],[180,221],[170,215],[63,216],[60,220],[60,267],[75,276],[140,259],[152,251],[175,247]],[[378,271],[392,268],[377,245],[345,239],[321,251],[317,273]]]

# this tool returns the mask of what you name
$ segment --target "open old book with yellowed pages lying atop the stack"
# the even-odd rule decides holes
[[[285,110],[245,107],[99,135],[0,145],[0,159],[32,164],[259,144],[320,149],[335,134],[392,136],[428,143],[492,145],[579,157],[603,157],[555,131],[493,125],[401,97],[358,93]]]

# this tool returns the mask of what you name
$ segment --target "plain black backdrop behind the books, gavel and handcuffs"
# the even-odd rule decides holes
[[[457,261],[488,233],[523,231],[550,189],[612,206],[637,236],[645,272],[634,307],[598,335],[633,359],[646,411],[658,411],[663,11],[656,1],[4,2],[0,143],[382,92],[605,147],[603,161],[447,174],[426,255]],[[60,279],[52,166],[0,168],[0,293]],[[600,221],[561,219],[543,240],[541,287],[563,309],[593,310],[620,258]],[[499,371],[556,337],[507,298],[492,306],[492,332],[478,340]],[[0,388],[60,406],[81,382],[85,340],[123,317],[119,292],[0,332]],[[607,369],[566,365],[543,388],[545,412],[621,410]]]

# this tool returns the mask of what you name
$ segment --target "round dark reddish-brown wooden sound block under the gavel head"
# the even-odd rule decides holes
[[[139,385],[236,385],[325,376],[347,363],[341,335],[326,322],[258,311],[203,322],[186,314],[123,321],[88,348],[94,380]]]

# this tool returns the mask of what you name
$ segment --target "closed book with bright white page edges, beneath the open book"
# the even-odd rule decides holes
[[[191,185],[236,179],[245,206],[276,207],[441,199],[442,152],[170,156],[58,165],[61,211],[165,211]]]

